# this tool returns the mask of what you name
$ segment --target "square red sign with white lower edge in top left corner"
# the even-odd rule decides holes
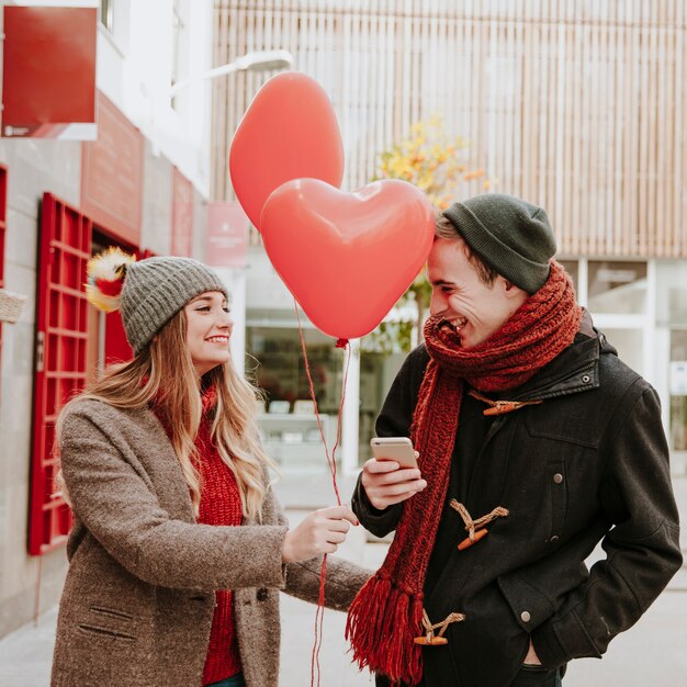
[[[95,139],[95,8],[4,8],[2,136]]]

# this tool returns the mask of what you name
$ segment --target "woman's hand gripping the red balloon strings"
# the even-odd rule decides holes
[[[295,563],[334,553],[346,541],[351,525],[358,525],[358,518],[347,506],[320,508],[311,513],[296,528],[286,532],[281,551],[282,561]]]

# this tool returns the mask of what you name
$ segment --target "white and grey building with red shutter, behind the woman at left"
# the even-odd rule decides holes
[[[131,354],[119,314],[83,299],[86,262],[108,246],[204,258],[211,91],[193,77],[212,64],[212,4],[72,4],[97,11],[98,139],[0,139],[0,279],[27,296],[1,327],[0,637],[52,606],[67,570],[58,409]]]

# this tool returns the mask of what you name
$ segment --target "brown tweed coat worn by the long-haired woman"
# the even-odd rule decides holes
[[[76,519],[52,685],[200,687],[214,590],[228,588],[246,685],[274,687],[279,590],[316,602],[320,560],[282,564],[272,491],[261,523],[196,525],[155,415],[97,401],[69,409],[60,457]],[[344,610],[369,573],[336,559],[327,571],[327,606]]]

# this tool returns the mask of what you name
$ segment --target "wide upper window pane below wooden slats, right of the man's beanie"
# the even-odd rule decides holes
[[[589,260],[588,308],[594,313],[646,312],[646,262]]]

